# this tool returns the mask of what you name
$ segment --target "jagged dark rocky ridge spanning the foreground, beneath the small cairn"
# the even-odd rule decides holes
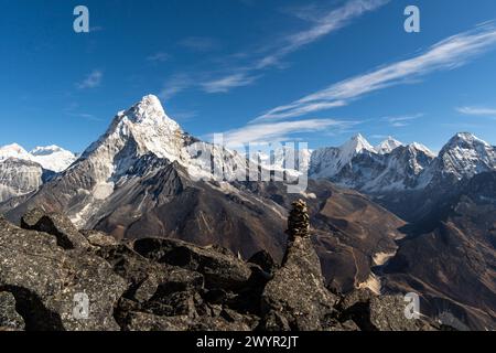
[[[75,295],[89,314],[75,314]],[[324,286],[311,238],[296,236],[282,265],[248,261],[176,239],[118,242],[33,210],[18,227],[0,218],[1,330],[436,330],[408,320],[402,297]],[[77,311],[76,311],[77,313]]]

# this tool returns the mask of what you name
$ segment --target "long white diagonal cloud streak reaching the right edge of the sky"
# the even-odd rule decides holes
[[[279,106],[256,120],[298,117],[309,111],[327,109],[328,104],[348,104],[353,99],[387,87],[408,84],[435,71],[453,69],[496,44],[494,22],[476,26],[443,40],[421,55],[379,67],[371,73],[333,84],[289,105]]]

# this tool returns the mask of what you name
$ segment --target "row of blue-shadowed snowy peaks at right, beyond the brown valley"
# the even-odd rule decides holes
[[[310,176],[366,193],[407,221],[429,216],[474,175],[496,170],[496,147],[467,132],[450,139],[439,154],[417,142],[388,138],[370,149],[364,140],[314,151]]]

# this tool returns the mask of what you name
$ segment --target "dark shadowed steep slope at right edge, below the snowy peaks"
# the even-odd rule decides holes
[[[494,329],[495,191],[496,172],[475,175],[411,225],[386,266],[385,289],[422,293],[425,313],[459,329]]]

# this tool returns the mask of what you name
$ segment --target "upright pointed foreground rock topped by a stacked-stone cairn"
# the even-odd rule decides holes
[[[336,297],[324,286],[321,264],[310,239],[306,204],[293,202],[288,221],[291,242],[281,268],[262,293],[266,330],[324,330]]]

